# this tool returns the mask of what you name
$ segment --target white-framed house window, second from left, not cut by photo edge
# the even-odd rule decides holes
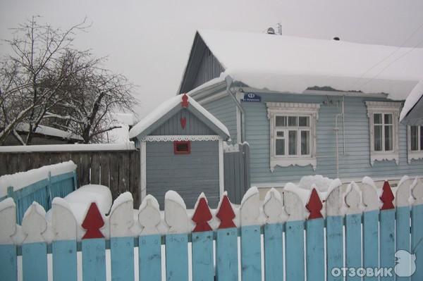
[[[399,161],[398,115],[401,103],[366,101],[370,132],[370,163]]]

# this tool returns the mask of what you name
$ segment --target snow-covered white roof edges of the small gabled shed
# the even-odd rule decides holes
[[[204,116],[209,122],[214,125],[220,132],[219,135],[224,137],[224,139],[229,139],[229,131],[228,128],[223,125],[212,113],[209,113],[204,107],[202,107],[200,104],[197,103],[192,97],[187,95],[177,95],[173,96],[171,99],[168,99],[167,101],[164,101],[160,106],[157,106],[157,108],[154,109],[151,113],[149,113],[145,118],[142,118],[140,122],[137,123],[130,131],[129,131],[129,138],[132,139],[134,137],[137,137],[139,135],[143,135],[149,129],[154,125],[155,123],[159,122],[161,118],[164,118],[164,116],[169,112],[172,111],[173,108],[176,108],[176,106],[180,106],[182,108],[182,102],[183,97],[188,98],[188,107],[187,109],[189,111],[191,110],[191,106],[197,110],[197,113],[200,113]],[[196,113],[196,112],[192,112]],[[197,116],[199,117],[199,116]],[[162,120],[163,122],[166,120]]]

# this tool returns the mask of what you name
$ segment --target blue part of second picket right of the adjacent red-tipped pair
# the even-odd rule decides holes
[[[283,276],[283,224],[264,225],[264,280],[281,280]]]

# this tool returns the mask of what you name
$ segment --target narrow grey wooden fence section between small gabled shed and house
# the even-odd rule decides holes
[[[223,154],[225,190],[232,203],[241,204],[250,188],[250,146],[247,143],[228,146]]]

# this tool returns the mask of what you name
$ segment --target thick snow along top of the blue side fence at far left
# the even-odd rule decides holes
[[[75,163],[73,161],[67,161],[27,170],[26,172],[14,173],[13,175],[2,175],[0,177],[0,198],[6,196],[8,187],[13,187],[13,190],[16,191],[40,180],[47,179],[49,175],[54,176],[70,173],[75,169]]]

